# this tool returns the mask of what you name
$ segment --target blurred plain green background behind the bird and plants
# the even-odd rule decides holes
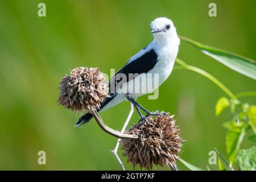
[[[38,16],[39,2],[46,3],[46,17]],[[217,17],[208,16],[210,2],[217,4]],[[159,16],[172,19],[180,35],[255,60],[255,7],[254,0],[1,0],[0,169],[121,169],[110,153],[117,139],[94,120],[81,129],[73,127],[82,113],[57,104],[60,78],[79,66],[100,67],[107,74],[110,68],[121,68],[151,42],[149,24]],[[251,78],[186,43],[181,42],[178,57],[209,72],[233,93],[256,89]],[[222,123],[230,115],[227,110],[220,117],[214,115],[221,96],[226,95],[207,78],[175,70],[160,86],[158,100],[144,96],[138,101],[149,110],[175,114],[181,137],[187,140],[181,158],[206,168],[214,147],[226,154]],[[121,130],[129,108],[129,102],[123,102],[101,115],[110,127]],[[131,123],[138,118],[134,113]],[[40,150],[46,151],[47,165],[38,164]],[[179,162],[178,167],[187,169]]]

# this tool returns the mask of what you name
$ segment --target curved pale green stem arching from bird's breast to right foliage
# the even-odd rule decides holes
[[[232,98],[232,99],[236,99],[237,98],[228,88],[226,88],[225,85],[223,85],[220,81],[218,81],[217,78],[215,78],[212,75],[210,75],[209,73],[205,72],[203,69],[200,69],[200,68],[188,65],[187,63],[185,63],[184,61],[180,60],[179,58],[176,59],[176,62],[179,63],[180,65],[182,65],[186,69],[189,69],[191,71],[197,72],[197,73],[207,77],[209,80],[214,82],[214,84],[216,84],[219,88],[221,88],[226,94],[228,94],[230,98]]]

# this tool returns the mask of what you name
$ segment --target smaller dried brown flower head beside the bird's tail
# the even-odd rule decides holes
[[[104,75],[98,68],[79,67],[60,82],[59,104],[75,111],[90,111],[100,107],[108,96]]]

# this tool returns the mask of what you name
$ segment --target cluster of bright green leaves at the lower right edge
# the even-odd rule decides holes
[[[225,104],[226,99],[223,97],[217,101],[217,108],[222,110],[224,107],[228,107]],[[222,103],[222,104],[221,104]],[[238,167],[242,170],[255,170],[256,168],[256,147],[253,146],[246,150],[240,150],[241,143],[245,137],[246,131],[253,130],[254,133],[249,137],[249,140],[256,143],[255,134],[255,111],[256,107],[254,105],[250,106],[245,103],[242,104],[241,101],[235,101],[230,106],[230,111],[234,115],[232,121],[226,122],[224,127],[228,129],[226,134],[226,152],[229,156],[229,162],[231,164],[236,163]],[[240,106],[239,112],[236,110],[236,106]],[[219,164],[220,166],[220,164]]]

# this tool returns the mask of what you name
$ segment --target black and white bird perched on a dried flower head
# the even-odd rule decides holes
[[[141,119],[144,119],[144,115],[141,113],[142,109],[148,115],[157,115],[159,113],[151,113],[144,107],[136,102],[136,99],[144,94],[151,93],[153,90],[157,89],[171,74],[172,68],[174,67],[174,62],[179,51],[180,39],[177,36],[176,28],[172,21],[168,18],[156,18],[150,24],[151,34],[154,36],[154,40],[139,51],[136,55],[131,57],[129,61],[121,68],[115,76],[109,81],[109,88],[114,85],[115,91],[109,92],[109,97],[101,103],[101,107],[97,108],[98,111],[104,111],[119,104],[122,101],[129,100],[137,109]],[[134,74],[132,78],[129,74]],[[122,74],[127,76],[127,79],[120,80],[117,79],[118,75]],[[143,93],[134,92],[118,92],[120,88],[126,88],[127,85],[143,87],[147,82],[141,78],[147,75],[158,75],[158,84],[154,85],[152,89],[147,90]],[[121,85],[120,88],[116,88],[117,85]],[[110,90],[111,91],[111,90]],[[82,126],[88,123],[92,119],[92,114],[86,113],[76,122],[76,126]]]

